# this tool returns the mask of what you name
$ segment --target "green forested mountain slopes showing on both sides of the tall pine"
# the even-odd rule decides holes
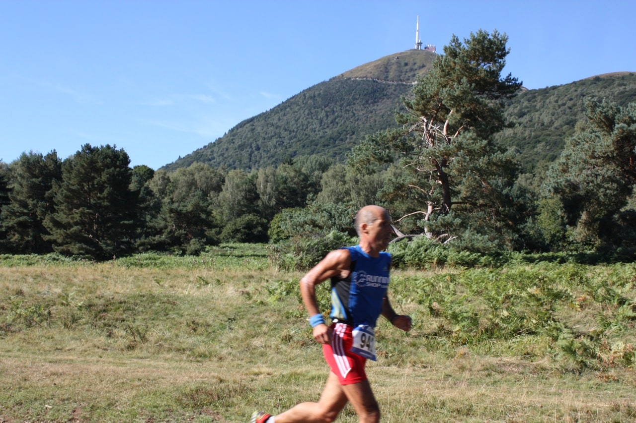
[[[245,119],[221,138],[163,166],[195,162],[228,169],[277,166],[287,158],[319,155],[343,160],[367,135],[395,126],[401,97],[436,54],[408,50],[382,57],[301,91],[269,111]],[[522,76],[515,75],[519,79]],[[539,90],[506,103],[510,126],[495,142],[518,153],[524,171],[551,163],[584,117],[584,98],[636,102],[636,74],[617,72]]]

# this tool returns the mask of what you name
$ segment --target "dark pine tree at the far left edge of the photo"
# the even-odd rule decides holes
[[[45,237],[46,216],[53,213],[53,181],[62,178],[62,162],[57,152],[42,156],[29,152],[10,164],[10,203],[1,212],[6,233],[5,250],[12,253],[48,253],[52,246]]]

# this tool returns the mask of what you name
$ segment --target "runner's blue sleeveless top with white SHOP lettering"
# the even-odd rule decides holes
[[[349,250],[351,269],[345,279],[331,278],[331,319],[375,327],[389,287],[391,254],[371,257],[359,245],[343,249]]]

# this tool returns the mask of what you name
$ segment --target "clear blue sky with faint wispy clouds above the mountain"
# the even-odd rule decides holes
[[[159,168],[314,84],[452,34],[544,88],[636,72],[636,2],[0,0],[0,159],[116,145]]]

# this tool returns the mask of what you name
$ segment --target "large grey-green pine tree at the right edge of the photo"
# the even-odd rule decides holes
[[[577,125],[542,187],[544,201],[556,200],[560,208],[544,208],[542,219],[544,227],[565,220],[555,242],[620,243],[631,230],[616,225],[636,184],[636,103],[588,100],[586,107],[588,121]]]

